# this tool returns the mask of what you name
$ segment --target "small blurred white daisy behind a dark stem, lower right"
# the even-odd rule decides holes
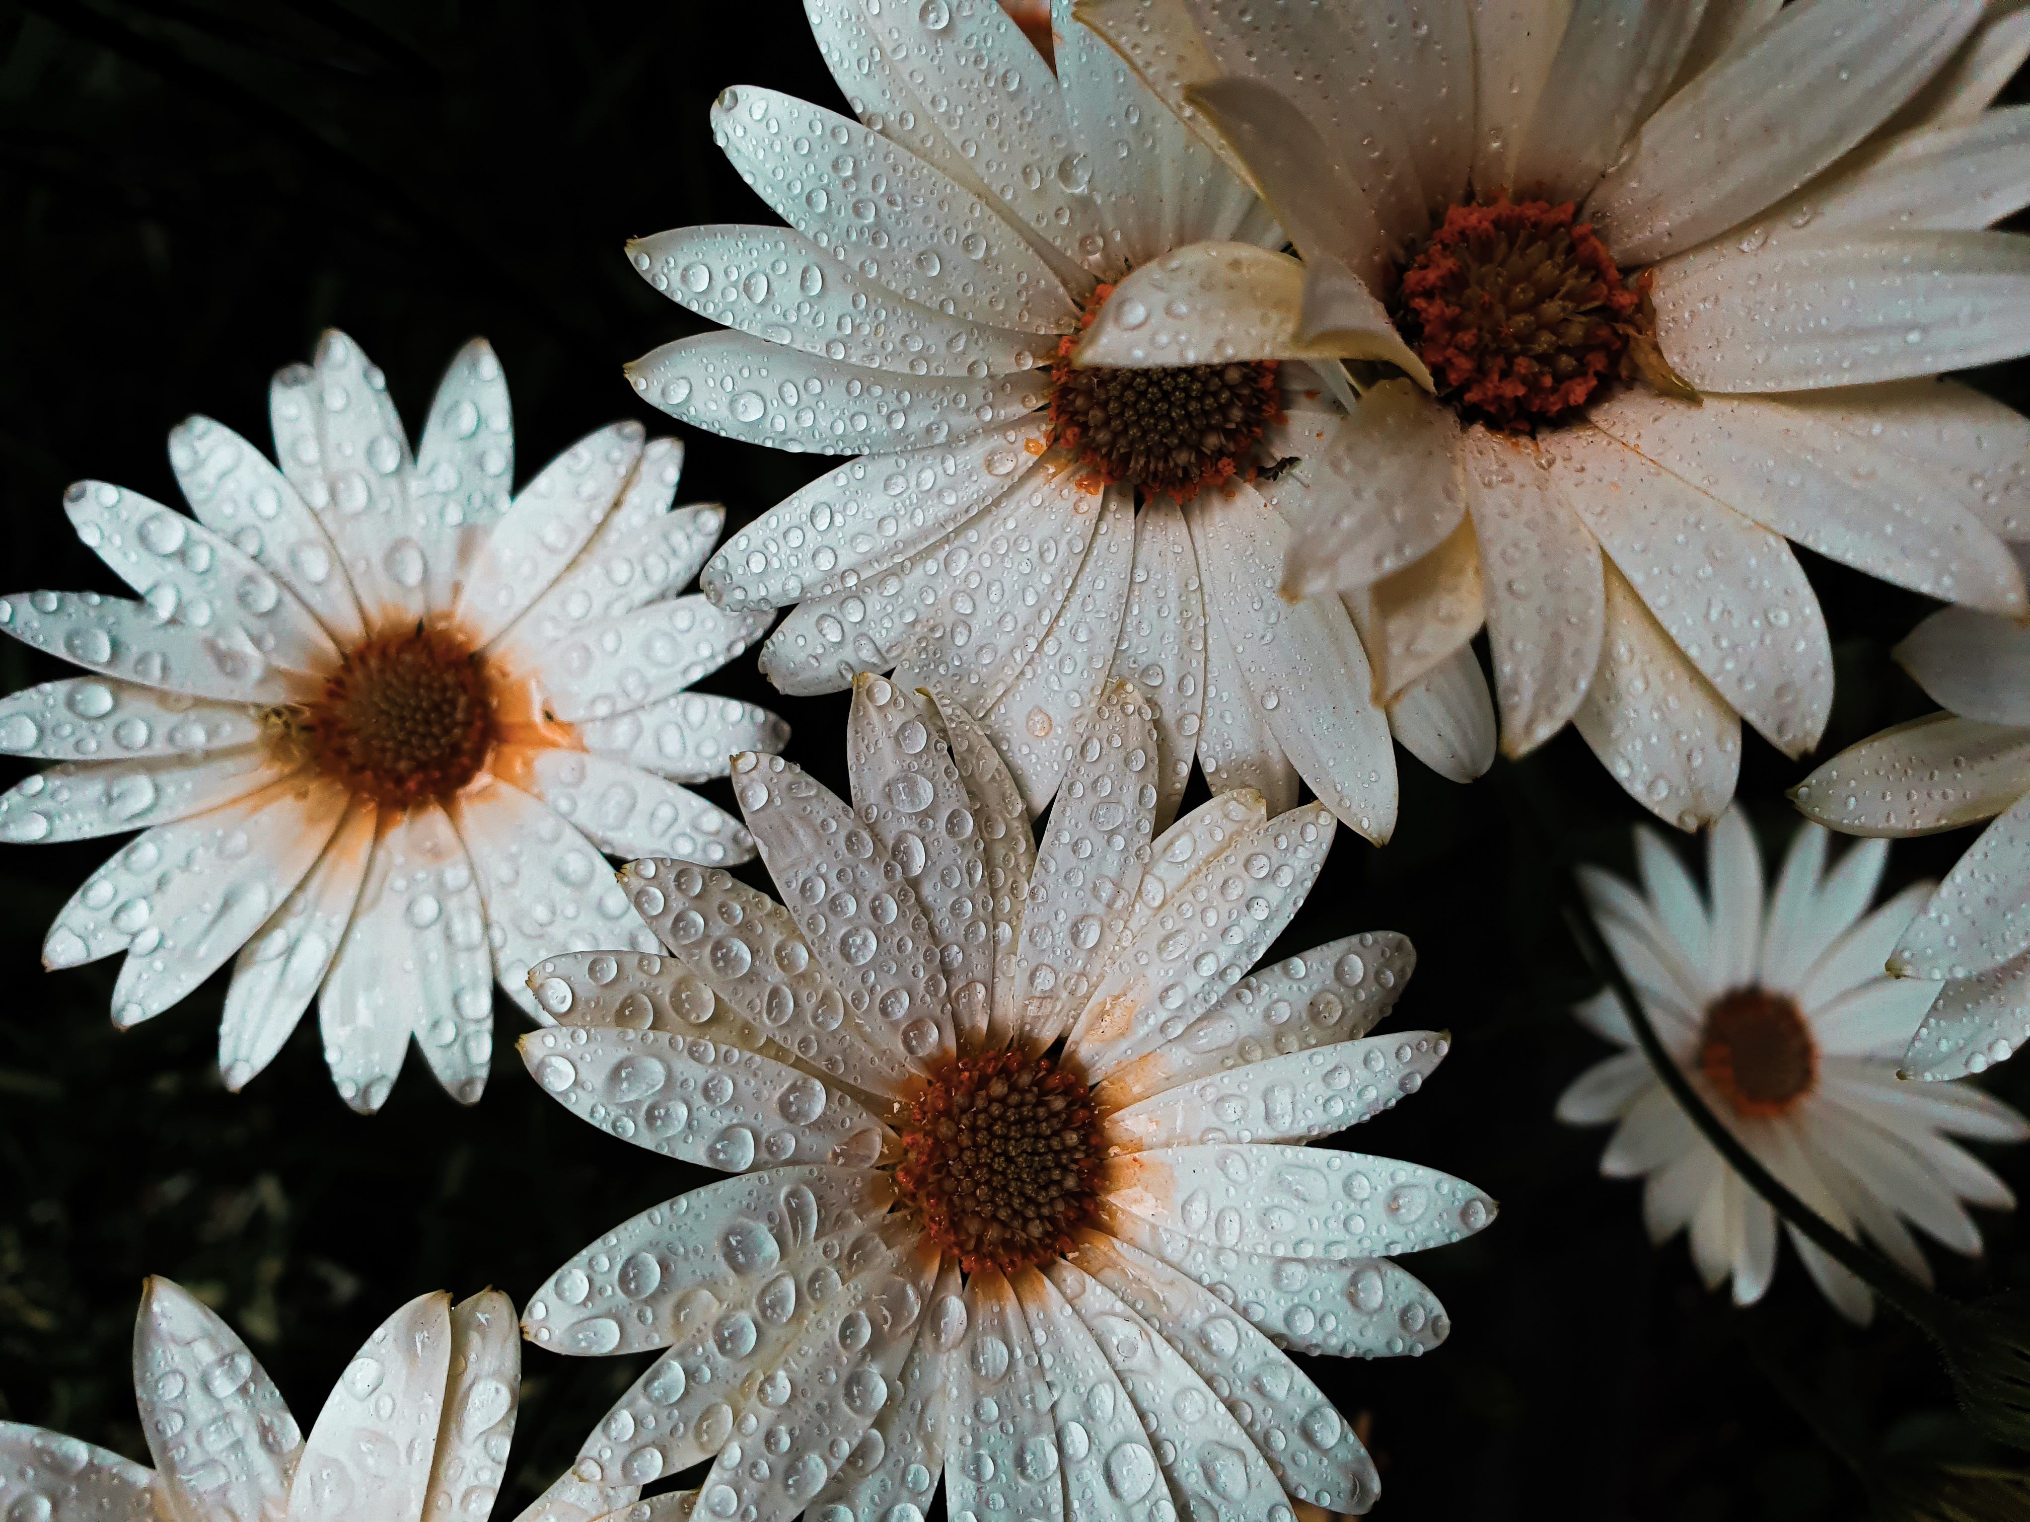
[[[1904,1222],[1971,1256],[1981,1234],[1961,1201],[2016,1205],[2010,1187],[1949,1138],[2024,1140],[2030,1124],[1977,1088],[1896,1076],[1937,984],[1888,978],[1882,958],[1931,885],[1870,911],[1888,846],[1857,844],[1827,871],[1827,840],[1803,826],[1766,901],[1740,810],[1713,826],[1703,897],[1650,830],[1636,830],[1640,891],[1596,869],[1581,871],[1581,883],[1656,1035],[1713,1114],[1807,1205],[1928,1285],[1931,1266]],[[1762,1299],[1776,1272],[1774,1209],[1656,1078],[1612,990],[1575,1013],[1626,1051],[1565,1090],[1559,1120],[1618,1122],[1600,1171],[1646,1175],[1650,1236],[1663,1242],[1689,1226],[1705,1283],[1717,1289],[1732,1274],[1736,1303]],[[1784,1230],[1825,1297],[1866,1321],[1868,1287]]]

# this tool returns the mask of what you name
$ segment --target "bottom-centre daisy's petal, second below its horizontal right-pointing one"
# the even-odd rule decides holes
[[[1380,1494],[1366,1447],[1287,1354],[1218,1295],[1127,1242],[1084,1232],[1072,1260],[1133,1305],[1212,1390],[1283,1490],[1332,1512],[1364,1512]],[[1287,1441],[1301,1433],[1303,1443]]]

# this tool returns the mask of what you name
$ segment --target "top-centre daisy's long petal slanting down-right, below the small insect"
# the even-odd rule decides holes
[[[1253,487],[1192,503],[1190,522],[1208,609],[1265,727],[1322,804],[1384,842],[1395,830],[1395,751],[1354,621],[1336,597],[1281,599],[1291,536]]]

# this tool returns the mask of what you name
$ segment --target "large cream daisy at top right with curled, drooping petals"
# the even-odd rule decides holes
[[[1179,250],[1078,363],[1354,363],[1263,495],[1285,591],[1451,578],[1391,641],[1482,613],[1502,743],[1571,720],[1691,828],[1740,720],[1786,755],[1833,664],[1786,540],[2022,613],[2002,538],[2030,422],[1939,371],[2030,351],[2030,110],[1985,110],[2030,14],[1979,0],[1088,0],[1080,16],[1253,172],[1305,260]],[[1315,599],[1313,599],[1315,601]]]

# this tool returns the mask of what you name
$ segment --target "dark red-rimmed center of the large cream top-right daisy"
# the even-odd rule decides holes
[[[1403,268],[1397,323],[1472,422],[1559,422],[1654,349],[1646,278],[1624,282],[1571,213],[1569,201],[1451,207]]]

